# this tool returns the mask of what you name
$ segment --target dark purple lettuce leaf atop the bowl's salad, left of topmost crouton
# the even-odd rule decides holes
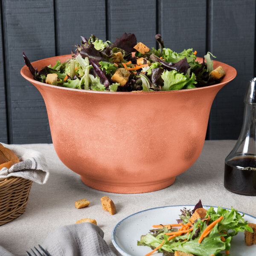
[[[111,48],[118,47],[125,50],[125,52],[135,52],[134,46],[137,44],[137,38],[134,34],[124,33],[120,38],[111,44]]]

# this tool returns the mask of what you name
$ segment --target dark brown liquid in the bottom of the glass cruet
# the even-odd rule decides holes
[[[241,195],[256,195],[256,157],[238,157],[225,163],[224,187]]]

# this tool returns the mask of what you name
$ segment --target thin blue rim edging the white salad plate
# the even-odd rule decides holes
[[[145,210],[140,211],[140,212],[135,212],[135,213],[133,213],[133,214],[131,214],[131,215],[125,217],[124,219],[122,219],[121,221],[119,221],[119,222],[116,224],[116,226],[113,228],[112,233],[111,233],[111,241],[112,241],[112,243],[113,243],[113,246],[116,248],[116,250],[117,250],[119,253],[121,253],[122,256],[132,256],[131,254],[127,253],[126,251],[124,251],[124,250],[119,246],[119,244],[116,242],[116,238],[115,238],[117,229],[119,228],[119,226],[120,226],[125,220],[127,220],[128,218],[131,218],[131,217],[134,216],[134,215],[138,215],[138,214],[140,214],[140,213],[142,213],[142,212],[148,212],[148,211],[151,211],[151,210],[163,209],[163,208],[167,208],[167,207],[168,207],[168,208],[180,207],[180,209],[183,209],[184,207],[186,207],[186,208],[189,208],[189,207],[192,208],[192,207],[193,207],[193,208],[194,208],[195,205],[187,204],[187,205],[171,205],[171,206],[163,206],[163,207],[154,207],[154,208],[150,208],[150,209],[145,209]],[[204,208],[213,207],[213,208],[215,208],[215,209],[218,208],[217,206],[209,206],[209,205],[203,205],[203,207],[204,207]],[[222,207],[222,208],[230,210],[230,208],[225,208],[225,207]],[[248,217],[253,218],[254,220],[256,220],[256,217],[254,217],[254,216],[252,216],[252,215],[249,215],[249,214],[246,214],[246,213],[240,212],[240,211],[238,211],[238,212],[239,212],[241,215],[244,214],[244,216],[248,216]],[[177,217],[178,217],[178,216],[177,216]],[[148,231],[149,231],[149,229],[148,229]],[[143,235],[143,234],[140,234],[140,235]]]

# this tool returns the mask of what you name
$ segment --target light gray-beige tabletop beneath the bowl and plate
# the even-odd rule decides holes
[[[196,204],[201,199],[204,205],[233,206],[256,216],[256,197],[233,194],[223,186],[224,159],[234,144],[234,140],[205,141],[198,160],[177,176],[172,186],[130,195],[102,192],[84,185],[79,175],[61,163],[52,144],[22,145],[44,154],[50,177],[44,185],[33,183],[23,215],[0,226],[0,245],[15,255],[24,255],[28,248],[42,243],[55,228],[73,224],[81,218],[94,218],[104,231],[107,244],[120,255],[111,243],[113,227],[126,216],[144,209]],[[116,204],[115,215],[102,209],[100,198],[103,195],[108,195]],[[76,209],[74,203],[81,198],[89,200],[90,206]]]

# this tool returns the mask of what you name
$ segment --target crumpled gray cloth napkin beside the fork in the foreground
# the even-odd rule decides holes
[[[95,224],[72,224],[54,230],[41,245],[52,256],[116,256],[103,236]],[[14,255],[0,246],[0,256]]]

